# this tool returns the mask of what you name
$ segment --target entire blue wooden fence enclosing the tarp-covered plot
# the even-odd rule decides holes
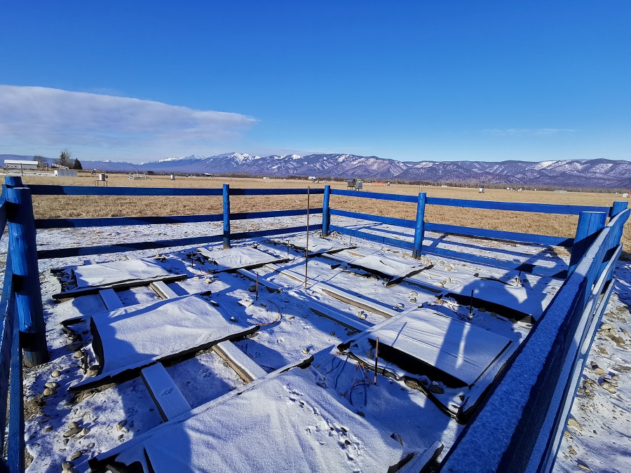
[[[231,196],[273,196],[323,194],[323,207],[316,209],[280,210],[271,212],[231,213]],[[222,197],[222,214],[186,215],[165,217],[110,217],[103,219],[34,219],[32,195],[42,196],[208,196]],[[416,219],[379,217],[372,214],[347,212],[331,207],[331,196],[372,198],[392,200],[416,205]],[[491,231],[484,228],[433,224],[425,221],[426,205],[447,205],[453,207],[487,210],[511,210],[515,212],[541,212],[547,214],[578,215],[575,238],[534,235],[508,231]],[[358,238],[383,242],[412,250],[414,257],[430,253],[456,259],[467,259],[489,266],[515,268],[534,271],[534,265],[514,264],[508,261],[465,255],[447,249],[423,245],[424,232],[436,231],[456,233],[478,238],[493,238],[515,242],[534,243],[544,246],[571,248],[569,277],[559,290],[546,316],[536,324],[529,338],[535,343],[524,343],[518,350],[515,363],[503,375],[503,379],[487,398],[475,419],[468,425],[447,458],[446,471],[461,469],[468,465],[470,471],[549,470],[556,457],[560,433],[569,413],[571,399],[576,390],[580,373],[606,301],[609,299],[613,264],[621,252],[620,237],[622,228],[629,216],[627,203],[614,203],[612,207],[585,207],[576,205],[549,205],[526,203],[503,203],[445,198],[427,198],[425,193],[418,196],[370,193],[359,191],[324,189],[233,189],[224,184],[223,188],[118,188],[87,186],[23,186],[20,178],[7,178],[0,197],[0,230],[9,224],[9,251],[5,270],[4,289],[0,303],[0,447],[4,446],[6,401],[11,390],[11,409],[8,434],[8,457],[0,467],[8,466],[12,472],[24,469],[24,418],[22,406],[22,350],[24,361],[35,365],[46,361],[48,353],[39,285],[34,286],[34,277],[39,280],[37,260],[44,258],[64,258],[90,254],[107,254],[139,249],[157,249],[174,246],[198,245],[208,242],[223,242],[229,247],[232,240],[256,238],[283,233],[306,231],[306,226],[274,228],[264,231],[231,233],[230,222],[239,219],[262,219],[269,217],[293,217],[322,214],[321,225],[311,225],[310,229],[322,231],[327,236],[330,231],[339,231]],[[331,216],[352,217],[355,219],[391,224],[403,228],[414,228],[412,241],[399,240],[367,231],[358,231],[331,224]],[[605,226],[606,218],[609,224]],[[147,242],[118,243],[90,247],[70,247],[37,251],[34,245],[36,228],[80,228],[93,226],[179,224],[191,222],[222,222],[222,233],[196,238],[153,240]],[[1,232],[0,232],[1,235]],[[15,282],[18,281],[18,287]],[[575,297],[579,294],[578,297]],[[604,296],[604,297],[601,297]],[[37,300],[39,299],[39,306]],[[11,367],[11,371],[9,371]],[[528,376],[521,376],[527,371]],[[7,383],[9,381],[9,383]],[[10,385],[10,388],[8,386]],[[517,396],[520,393],[520,396]],[[534,393],[534,395],[533,395]],[[499,416],[502,404],[507,397],[523,400],[523,406],[513,409],[506,416]],[[526,420],[524,420],[526,419]],[[531,422],[532,420],[532,422]],[[502,430],[496,429],[501,423]],[[496,433],[494,433],[496,432]],[[493,454],[479,455],[480,451]],[[472,452],[475,455],[472,455]],[[472,458],[477,463],[472,463]],[[478,461],[479,460],[479,461]]]

